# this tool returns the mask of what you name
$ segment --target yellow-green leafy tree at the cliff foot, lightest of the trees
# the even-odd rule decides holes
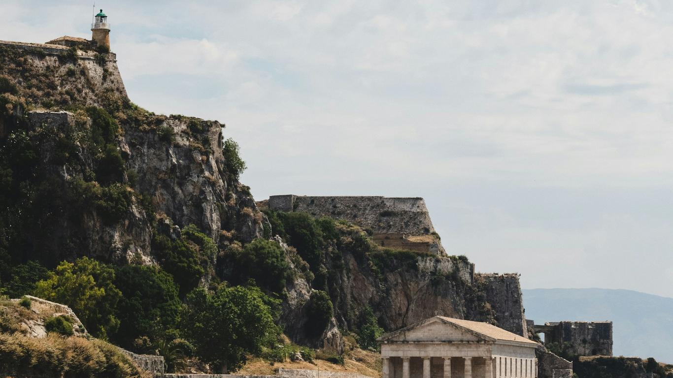
[[[90,258],[61,262],[49,278],[37,282],[35,295],[68,305],[97,338],[114,334],[119,320],[114,309],[121,296],[114,270]]]

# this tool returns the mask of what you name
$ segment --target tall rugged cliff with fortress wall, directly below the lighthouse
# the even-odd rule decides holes
[[[0,42],[0,247],[50,266],[77,256],[151,263],[155,217],[215,243],[222,231],[261,237],[262,214],[227,172],[223,125],[131,104],[115,59]]]

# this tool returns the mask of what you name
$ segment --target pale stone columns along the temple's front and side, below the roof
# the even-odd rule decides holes
[[[432,378],[436,376],[431,375],[431,357],[420,357],[423,359],[423,377],[410,377],[409,361],[411,357],[400,357],[402,360],[402,377],[401,378]],[[452,378],[451,359],[462,358],[463,371],[461,378],[482,378],[472,377],[472,357],[441,357],[444,359],[443,378]],[[383,360],[383,377],[395,378],[392,374],[393,365],[390,357],[382,357]],[[483,358],[483,378],[537,378],[537,363],[535,358],[514,358],[495,356],[490,358]],[[490,362],[490,363],[489,363]],[[460,365],[458,365],[460,367]],[[460,369],[460,368],[459,368]],[[480,369],[481,370],[481,369]],[[481,372],[480,372],[481,373]],[[478,374],[481,375],[481,374]],[[454,377],[456,378],[456,377]]]

